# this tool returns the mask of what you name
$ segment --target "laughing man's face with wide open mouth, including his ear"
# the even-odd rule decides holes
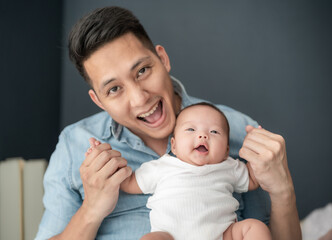
[[[91,99],[143,141],[168,138],[180,108],[168,56],[161,46],[156,51],[159,57],[128,33],[83,63],[94,89]]]

